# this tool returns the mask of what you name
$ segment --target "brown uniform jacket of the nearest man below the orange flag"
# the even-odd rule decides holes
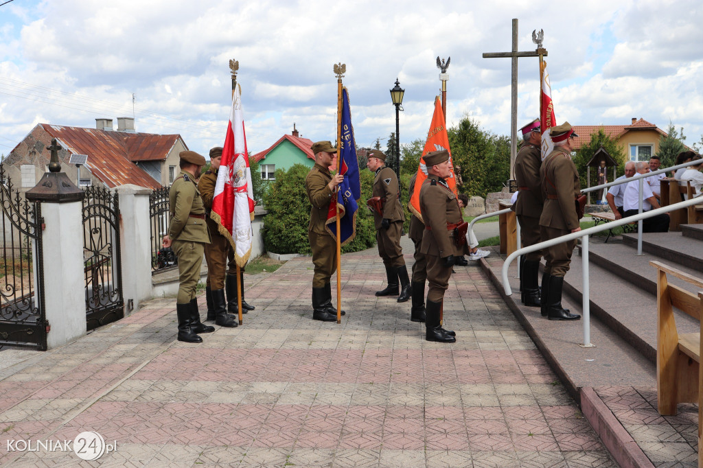
[[[468,253],[467,248],[456,246],[453,230],[446,228],[447,224],[463,221],[456,195],[441,185],[434,174],[427,176],[420,188],[420,212],[425,221],[421,253],[443,258]]]

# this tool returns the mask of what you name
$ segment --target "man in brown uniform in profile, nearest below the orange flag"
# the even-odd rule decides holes
[[[454,228],[463,222],[456,195],[445,178],[451,175],[449,152],[439,150],[425,155],[427,179],[420,188],[420,213],[425,221],[425,232],[420,252],[427,259],[427,291],[425,305],[425,339],[428,342],[453,343],[451,336],[439,323],[444,292],[449,287],[449,277],[454,256],[468,254],[468,247],[456,245]]]

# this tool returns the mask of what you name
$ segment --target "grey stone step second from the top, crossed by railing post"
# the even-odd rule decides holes
[[[637,249],[637,233],[623,234],[622,242]],[[703,242],[699,240],[680,233],[645,233],[642,235],[642,252],[659,256],[669,263],[688,266],[703,275]]]

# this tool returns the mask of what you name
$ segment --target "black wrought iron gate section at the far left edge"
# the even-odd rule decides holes
[[[44,308],[41,204],[29,202],[0,166],[2,258],[0,261],[0,345],[46,351],[49,323]]]

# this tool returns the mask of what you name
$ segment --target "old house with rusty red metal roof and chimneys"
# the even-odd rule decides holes
[[[179,152],[188,146],[180,135],[143,134],[134,131],[134,119],[96,119],[96,128],[37,124],[2,162],[22,191],[34,187],[48,169],[51,140],[61,146],[61,171],[80,186],[108,188],[128,183],[146,188],[167,186],[179,174]],[[87,155],[86,164],[70,164],[71,155]],[[20,183],[21,181],[21,183]],[[77,184],[78,185],[78,184]]]

